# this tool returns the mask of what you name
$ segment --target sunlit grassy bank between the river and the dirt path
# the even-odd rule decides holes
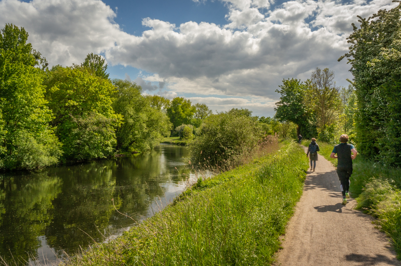
[[[304,151],[280,150],[212,178],[68,265],[270,265],[302,194]]]

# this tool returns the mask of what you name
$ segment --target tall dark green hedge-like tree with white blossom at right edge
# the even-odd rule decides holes
[[[348,37],[347,54],[354,76],[358,111],[358,151],[385,164],[401,165],[401,5],[379,10]]]

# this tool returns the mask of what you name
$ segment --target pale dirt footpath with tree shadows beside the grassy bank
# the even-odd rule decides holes
[[[318,157],[308,172],[303,195],[284,236],[277,265],[398,265],[385,234],[375,229],[372,216],[341,204],[340,181],[334,166]]]

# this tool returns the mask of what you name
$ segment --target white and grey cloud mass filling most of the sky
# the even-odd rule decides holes
[[[123,32],[113,21],[115,12],[100,0],[0,0],[0,24],[24,26],[51,64],[79,63],[89,52],[103,52],[109,64],[155,73],[136,78],[144,90],[277,99],[274,91],[283,78],[306,79],[317,66],[334,70],[345,85],[349,65],[337,58],[348,49],[350,23],[357,23],[356,15],[397,5],[294,0],[269,10],[273,0],[221,1],[229,7],[225,26],[145,18],[143,25],[151,29],[142,36]],[[272,110],[270,103],[235,104]],[[222,100],[214,106],[232,105]]]

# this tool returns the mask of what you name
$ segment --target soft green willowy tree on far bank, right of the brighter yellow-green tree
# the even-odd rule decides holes
[[[164,136],[170,135],[171,123],[163,112],[162,105],[153,105],[155,101],[168,104],[166,98],[142,96],[142,88],[128,80],[113,80],[117,88],[114,111],[124,121],[116,126],[117,150],[152,149]],[[163,104],[163,106],[164,106]]]

